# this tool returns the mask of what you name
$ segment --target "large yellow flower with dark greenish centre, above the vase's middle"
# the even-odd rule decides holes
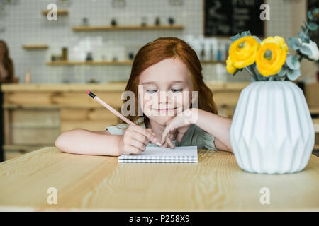
[[[256,57],[256,64],[262,76],[272,76],[279,73],[287,57],[284,44],[278,42],[266,42],[261,44]],[[288,48],[287,48],[288,49]]]

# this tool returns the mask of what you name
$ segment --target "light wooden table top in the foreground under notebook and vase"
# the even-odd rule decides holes
[[[47,204],[47,189],[57,204]],[[270,204],[259,193],[269,188]],[[319,158],[296,174],[242,171],[232,153],[198,150],[196,163],[118,163],[41,148],[0,164],[0,211],[319,210]]]

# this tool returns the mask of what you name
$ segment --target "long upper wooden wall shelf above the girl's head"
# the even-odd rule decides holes
[[[102,31],[102,30],[183,30],[183,25],[121,25],[121,26],[79,26],[73,31]]]

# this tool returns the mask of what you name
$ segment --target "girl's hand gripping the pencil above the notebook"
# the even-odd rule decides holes
[[[128,126],[118,142],[120,154],[140,154],[150,141],[157,142],[151,129],[144,129],[138,125]]]

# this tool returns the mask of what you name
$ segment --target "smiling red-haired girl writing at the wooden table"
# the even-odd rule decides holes
[[[232,152],[231,119],[217,115],[201,71],[196,52],[183,40],[164,37],[147,43],[135,56],[125,88],[135,94],[128,119],[137,125],[107,126],[105,131],[74,129],[62,133],[55,145],[86,155],[139,154],[146,146],[157,146],[157,141],[162,148],[197,145]],[[186,95],[194,91],[197,97]],[[136,114],[139,109],[141,116]]]

